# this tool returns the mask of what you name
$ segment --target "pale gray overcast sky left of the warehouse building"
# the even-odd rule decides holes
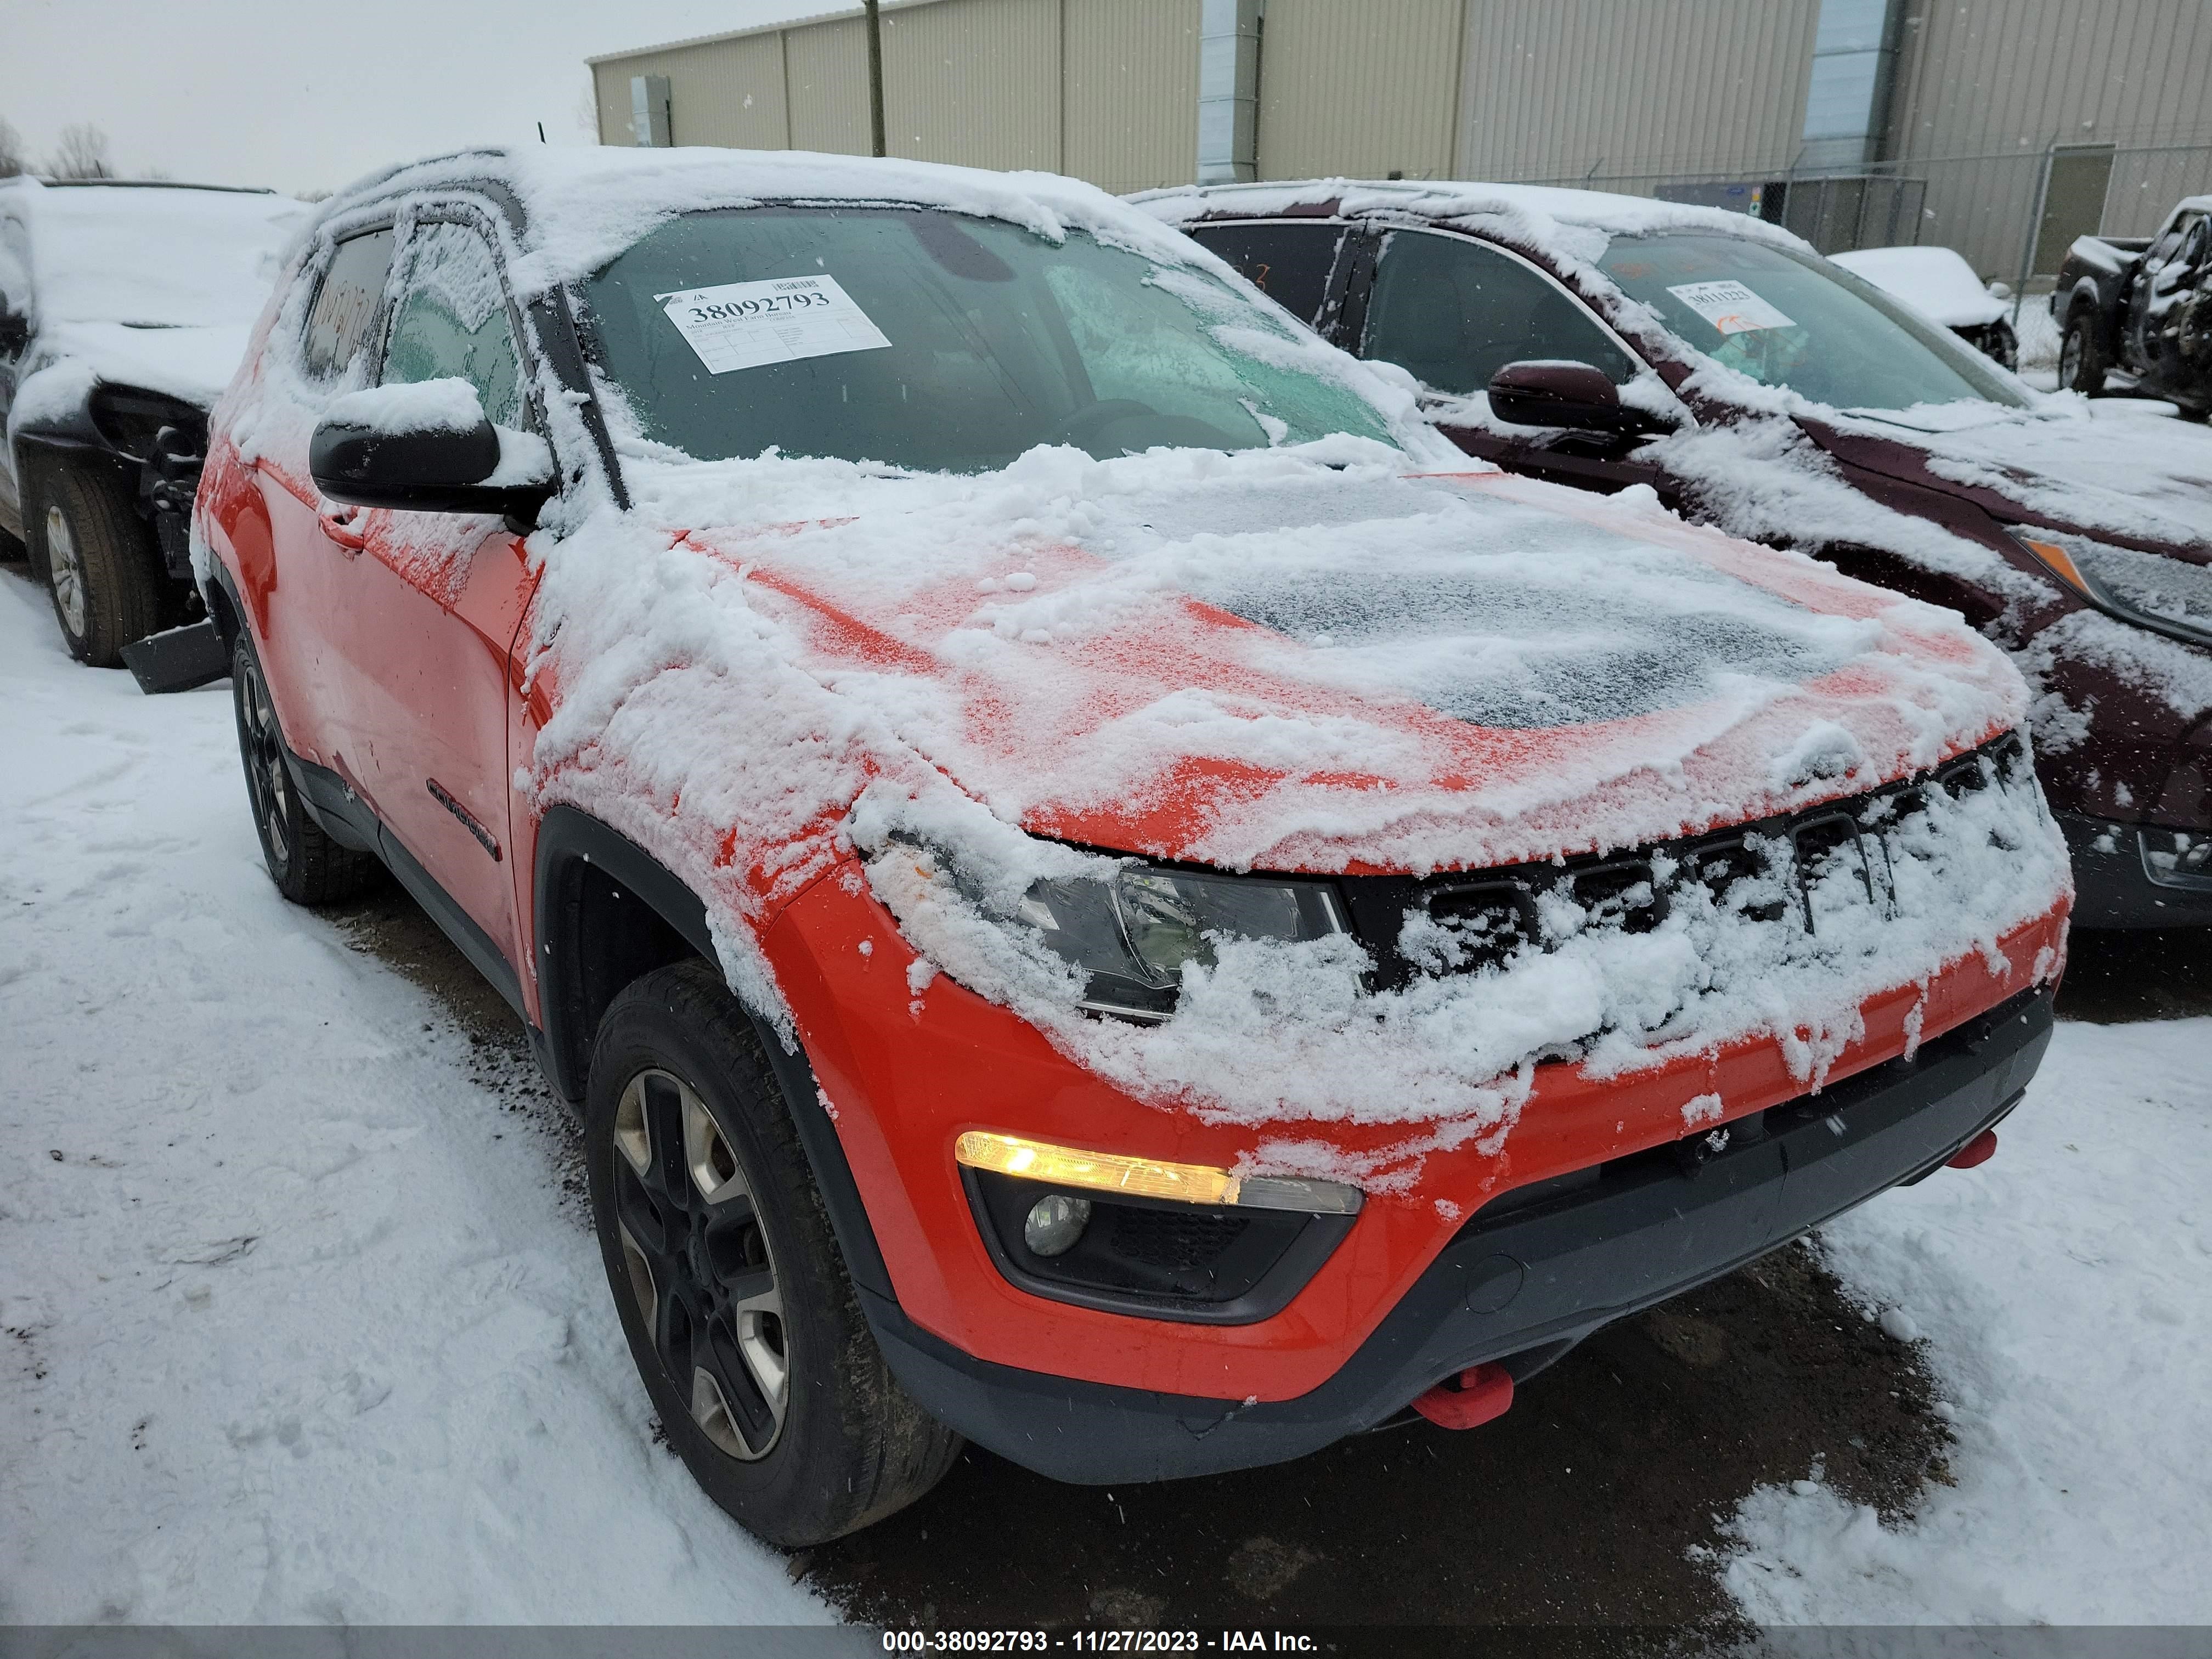
[[[0,117],[71,122],[117,168],[330,190],[462,144],[593,144],[584,58],[838,0],[0,0]]]

